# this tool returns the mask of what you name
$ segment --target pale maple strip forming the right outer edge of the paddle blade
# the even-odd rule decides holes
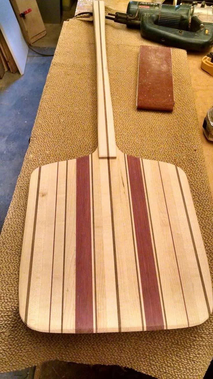
[[[177,168],[177,171],[180,178],[180,183],[183,191],[183,198],[185,200],[189,224],[191,227],[191,233],[194,240],[194,251],[196,255],[197,265],[199,268],[199,273],[201,276],[202,286],[204,288],[204,296],[206,298],[208,316],[210,316],[213,308],[213,295],[207,255],[205,254],[204,243],[202,240],[200,227],[197,221],[197,215],[194,209],[193,199],[191,197],[191,191],[188,184],[187,176],[182,169]],[[208,318],[208,316],[206,315],[206,318]]]

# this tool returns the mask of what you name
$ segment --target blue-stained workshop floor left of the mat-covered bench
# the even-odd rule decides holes
[[[45,24],[47,34],[34,42],[34,50],[54,54],[63,22],[75,15],[76,4],[77,0],[69,11],[63,12],[61,24]],[[51,56],[29,49],[24,75],[7,71],[0,80],[0,231],[28,148],[51,60]]]

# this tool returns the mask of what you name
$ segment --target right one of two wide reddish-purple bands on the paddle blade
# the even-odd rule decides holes
[[[140,158],[127,155],[146,329],[164,329]]]

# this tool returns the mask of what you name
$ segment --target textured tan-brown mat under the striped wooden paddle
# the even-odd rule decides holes
[[[117,145],[128,154],[185,170],[213,272],[213,207],[186,52],[172,49],[173,113],[136,111],[139,46],[151,42],[124,25],[106,24]],[[87,155],[96,145],[93,24],[75,19],[64,23],[0,239],[0,371],[60,359],[129,366],[157,378],[202,378],[213,353],[212,317],[189,329],[99,335],[42,334],[28,329],[19,317],[19,263],[30,174],[39,165]]]

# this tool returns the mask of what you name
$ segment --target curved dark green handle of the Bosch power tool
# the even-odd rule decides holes
[[[191,32],[157,25],[158,18],[157,14],[142,14],[140,32],[143,37],[187,50],[207,50],[213,44],[213,30],[210,25],[207,32],[206,24],[203,29]],[[199,23],[198,19],[197,22]]]

